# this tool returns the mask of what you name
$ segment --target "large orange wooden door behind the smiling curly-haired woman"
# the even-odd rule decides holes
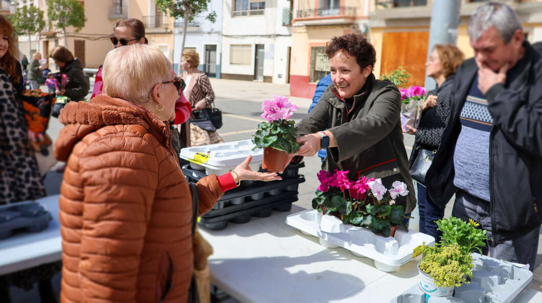
[[[406,87],[424,86],[425,61],[429,31],[395,31],[384,33],[380,74],[393,72],[399,66],[412,74]]]

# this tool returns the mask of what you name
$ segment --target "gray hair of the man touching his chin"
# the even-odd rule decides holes
[[[506,44],[516,30],[523,30],[518,15],[507,4],[499,2],[486,2],[474,11],[469,20],[469,38],[476,41],[491,27],[495,27]]]

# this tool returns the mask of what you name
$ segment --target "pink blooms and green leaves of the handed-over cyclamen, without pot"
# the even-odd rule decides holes
[[[288,119],[297,109],[285,96],[274,95],[272,100],[264,100],[261,117],[267,122],[258,124],[252,139],[254,148],[272,147],[287,153],[296,152],[299,144],[295,140],[295,123]]]

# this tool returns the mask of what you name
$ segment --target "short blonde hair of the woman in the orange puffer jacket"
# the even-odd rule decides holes
[[[171,71],[171,62],[156,47],[136,43],[115,48],[105,57],[103,91],[113,98],[144,105],[152,100],[154,86]]]

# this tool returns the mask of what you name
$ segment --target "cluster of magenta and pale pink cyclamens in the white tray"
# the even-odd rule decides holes
[[[312,207],[326,215],[339,218],[345,224],[370,228],[373,233],[389,237],[392,225],[403,225],[405,216],[402,205],[395,199],[408,195],[406,184],[395,181],[387,189],[381,179],[362,176],[349,180],[349,171],[321,170],[320,181]],[[406,227],[405,227],[406,228]]]

